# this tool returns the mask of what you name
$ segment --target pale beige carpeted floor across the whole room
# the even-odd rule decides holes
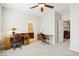
[[[63,43],[43,45],[39,41],[34,41],[30,45],[22,46],[22,49],[4,50],[0,55],[5,56],[79,56],[79,52],[69,49],[69,40]]]

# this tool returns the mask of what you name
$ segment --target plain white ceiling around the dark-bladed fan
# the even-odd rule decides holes
[[[56,11],[61,13],[62,15],[67,15],[69,16],[69,5],[68,3],[47,3],[49,5],[52,5],[55,7]],[[13,9],[16,11],[21,11],[21,12],[29,12],[35,15],[41,15],[41,11],[40,8],[34,8],[34,9],[30,9],[30,7],[37,5],[36,3],[26,3],[26,4],[22,4],[22,3],[3,3],[1,4],[3,7],[5,8],[9,8],[9,9]],[[50,8],[45,8],[44,12],[47,13],[49,11],[53,11],[53,9]],[[44,13],[43,12],[43,13]]]

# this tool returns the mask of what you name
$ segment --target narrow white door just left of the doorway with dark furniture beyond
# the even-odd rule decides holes
[[[64,37],[63,37],[63,21],[59,20],[58,21],[58,42],[63,42],[64,41]]]

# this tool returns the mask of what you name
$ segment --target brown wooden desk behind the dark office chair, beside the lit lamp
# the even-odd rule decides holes
[[[30,43],[29,39],[34,38],[34,33],[19,33],[21,35],[22,44],[27,45]],[[26,36],[26,34],[28,34]],[[10,49],[12,47],[13,37],[5,37],[5,49]]]

